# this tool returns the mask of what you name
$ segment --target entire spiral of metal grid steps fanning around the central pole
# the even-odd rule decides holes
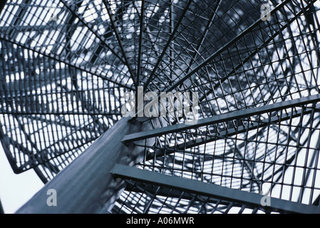
[[[197,93],[199,109],[191,107],[192,125],[177,107],[175,115],[138,118],[161,123],[123,138],[144,153],[138,169],[264,192],[280,206],[123,175],[127,187],[112,212],[299,212],[282,208],[283,199],[319,205],[319,1],[17,0],[2,7],[0,133],[15,172],[33,168],[51,180],[120,120],[126,92],[143,86],[145,93]]]

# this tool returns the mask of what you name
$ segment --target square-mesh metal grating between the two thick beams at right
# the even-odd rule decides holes
[[[150,130],[145,137],[156,143],[145,148],[139,167],[312,204],[320,193],[319,106],[281,108],[259,115],[234,112],[234,119],[209,118],[201,127],[182,125],[187,129],[156,137]]]

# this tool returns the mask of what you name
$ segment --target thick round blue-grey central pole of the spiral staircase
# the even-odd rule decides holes
[[[129,132],[152,128],[150,123],[130,124],[128,120],[115,123],[16,213],[108,213],[125,187],[122,181],[114,180],[110,171],[116,163],[135,165],[143,158],[143,149],[120,143],[121,138]],[[48,190],[56,190],[56,207],[47,204]]]

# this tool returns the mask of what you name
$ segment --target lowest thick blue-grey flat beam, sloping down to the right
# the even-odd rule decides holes
[[[140,170],[138,168],[125,165],[117,164],[113,170],[111,170],[111,172],[114,177],[120,177],[122,179],[136,180],[153,185],[160,185],[174,190],[181,190],[197,195],[204,195],[207,197],[249,204],[254,207],[262,207],[261,199],[264,197],[263,195],[259,195],[257,193],[243,192],[241,190],[235,190],[228,187],[199,182],[196,180],[188,180],[181,177],[163,175],[158,172]],[[320,214],[320,208],[314,205],[300,204],[274,197],[270,197],[270,202],[271,206],[266,206],[264,207],[265,209],[272,209],[272,211],[276,212]]]

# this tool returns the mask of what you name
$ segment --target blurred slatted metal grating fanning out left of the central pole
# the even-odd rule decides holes
[[[1,141],[15,172],[47,182],[121,117],[133,81],[92,7],[8,1],[1,12]]]

